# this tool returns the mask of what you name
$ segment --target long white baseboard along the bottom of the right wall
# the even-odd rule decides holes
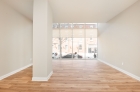
[[[124,73],[124,74],[126,74],[126,75],[128,75],[128,76],[130,76],[130,77],[132,77],[132,78],[134,78],[134,79],[136,79],[136,80],[138,80],[138,81],[140,81],[140,77],[138,77],[138,76],[136,76],[136,75],[134,75],[134,74],[132,74],[130,72],[127,72],[126,70],[123,70],[123,69],[121,69],[119,67],[116,67],[116,66],[114,66],[112,64],[109,64],[109,63],[107,63],[107,62],[105,62],[105,61],[103,61],[101,59],[97,59],[97,60],[102,62],[102,63],[104,63],[104,64],[106,64],[106,65],[108,65],[108,66],[110,66],[110,67],[112,67],[112,68],[114,68],[114,69],[116,69],[116,70],[118,70],[118,71],[120,71],[120,72],[122,72],[122,73]]]

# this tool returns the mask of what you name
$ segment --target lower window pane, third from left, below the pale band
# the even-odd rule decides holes
[[[73,38],[74,59],[85,59],[84,38]]]

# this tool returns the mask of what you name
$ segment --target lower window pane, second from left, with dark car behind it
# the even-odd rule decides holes
[[[62,59],[71,59],[72,55],[72,38],[61,38]]]

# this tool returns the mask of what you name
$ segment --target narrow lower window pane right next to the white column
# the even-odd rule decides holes
[[[60,58],[60,40],[59,40],[59,38],[52,39],[52,58],[53,59]]]

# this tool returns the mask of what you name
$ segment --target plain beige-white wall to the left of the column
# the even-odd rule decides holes
[[[32,21],[0,0],[0,76],[32,61]]]

